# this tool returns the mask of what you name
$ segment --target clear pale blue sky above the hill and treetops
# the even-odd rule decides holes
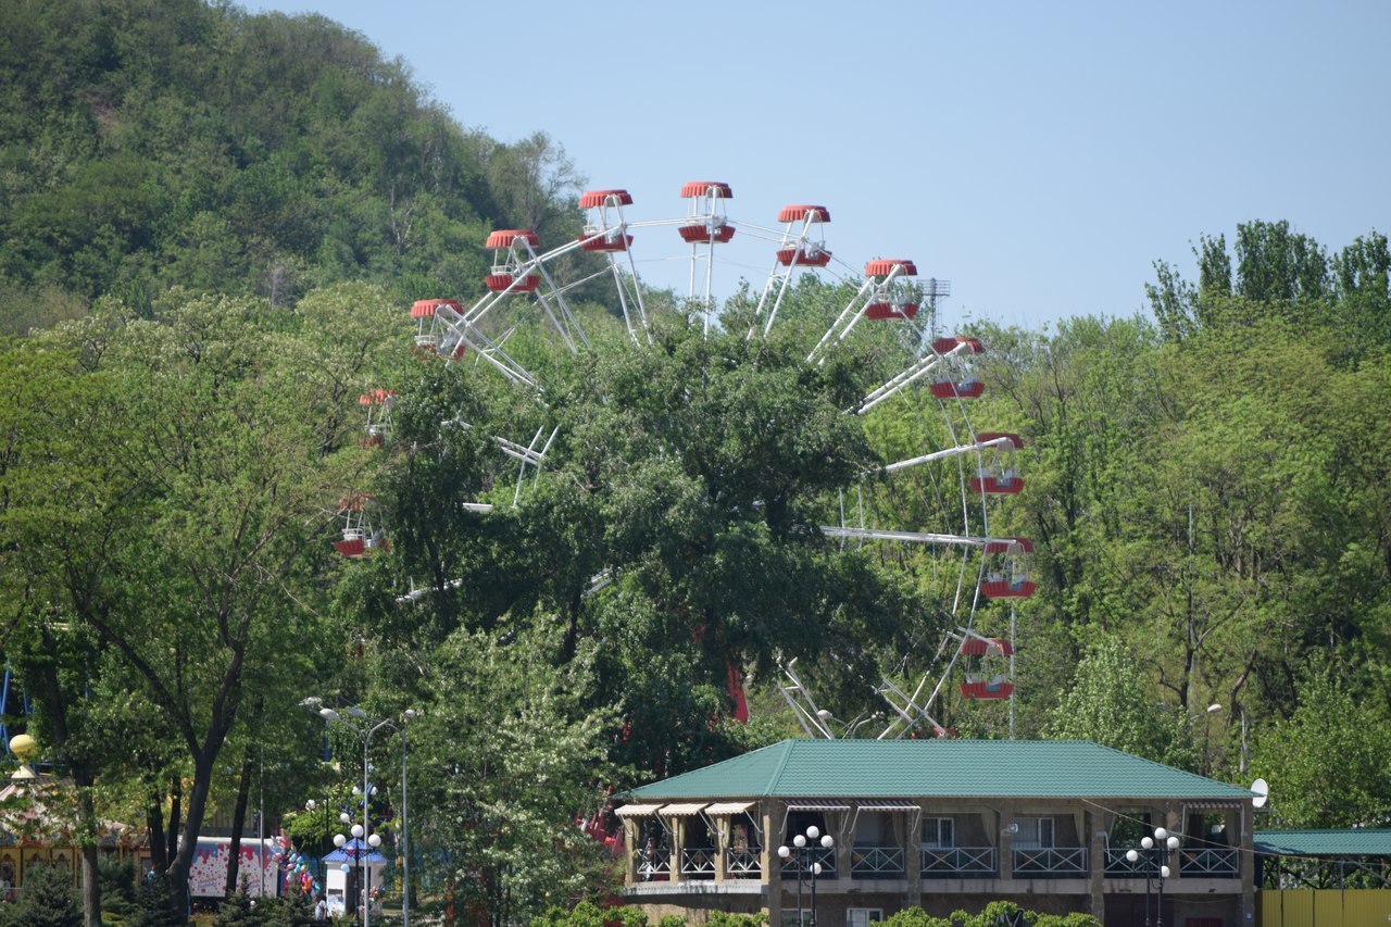
[[[1252,219],[1330,251],[1391,228],[1385,0],[245,7],[346,25],[466,127],[545,131],[629,219],[691,180],[747,223],[825,205],[836,258],[951,281],[946,327],[1145,310],[1153,260],[1192,276]]]

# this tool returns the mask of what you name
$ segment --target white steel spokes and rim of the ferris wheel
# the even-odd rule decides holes
[[[643,299],[638,262],[634,258],[634,242],[641,235],[634,232],[661,227],[675,227],[680,241],[689,246],[687,299],[691,305],[700,306],[701,324],[707,335],[715,316],[712,287],[716,255],[719,248],[729,244],[736,234],[769,242],[773,252],[772,270],[761,290],[754,322],[748,330],[751,338],[766,337],[772,333],[787,290],[798,271],[823,270],[832,263],[837,266],[842,278],[858,278],[860,283],[851,299],[808,354],[808,362],[823,362],[829,352],[835,351],[836,345],[843,342],[865,319],[910,320],[918,312],[922,288],[914,284],[918,273],[914,262],[876,259],[868,262],[864,266],[864,273],[858,274],[850,264],[833,259],[823,238],[823,227],[830,221],[830,213],[825,206],[786,206],[778,216],[782,224],[782,228],[778,230],[730,219],[726,212],[726,203],[733,198],[729,184],[693,181],[682,187],[680,195],[687,200],[684,216],[634,221],[627,217],[625,210],[633,205],[633,198],[627,191],[586,192],[579,203],[587,213],[583,234],[573,241],[545,251],[541,249],[536,234],[529,230],[492,232],[487,241],[487,246],[494,252],[491,273],[487,277],[488,291],[467,308],[453,301],[441,299],[416,303],[412,315],[421,322],[420,334],[416,338],[417,347],[444,355],[448,363],[455,363],[463,359],[467,352],[473,352],[476,362],[487,363],[513,383],[541,394],[544,384],[540,379],[506,352],[506,334],[502,337],[490,335],[483,323],[491,317],[494,320],[492,330],[497,331],[499,328],[498,319],[506,312],[509,302],[531,298],[538,306],[541,317],[556,333],[566,351],[587,349],[590,341],[572,312],[566,294],[600,277],[608,277],[612,281],[613,298],[622,312],[629,341],[634,348],[648,345],[652,341],[650,319]],[[602,255],[605,259],[602,270],[590,271],[587,276],[573,280],[562,278],[558,270],[562,264],[561,259],[576,252]],[[701,270],[704,273],[700,273]],[[929,319],[935,327],[936,298],[944,296],[949,287],[944,281],[932,280],[928,292],[931,299]],[[426,303],[430,305],[421,309]],[[506,331],[505,326],[502,330]],[[861,476],[867,479],[892,477],[917,468],[954,464],[953,494],[957,501],[953,502],[953,507],[958,507],[960,522],[954,529],[951,525],[944,525],[943,528],[950,530],[939,532],[872,526],[864,522],[862,507],[857,507],[861,515],[851,519],[846,516],[844,504],[842,504],[840,523],[822,525],[819,529],[828,537],[840,539],[842,543],[908,543],[929,546],[938,551],[954,551],[954,557],[958,560],[957,580],[947,611],[953,625],[958,625],[958,628],[949,631],[939,646],[933,660],[936,665],[940,664],[942,651],[954,637],[960,639],[960,635],[976,633],[974,631],[975,615],[982,600],[981,590],[986,582],[992,557],[1004,555],[1010,561],[1015,561],[1028,551],[1028,543],[1021,539],[993,537],[990,534],[988,497],[1002,490],[979,489],[982,484],[995,487],[1010,483],[1013,451],[1021,447],[1021,443],[1017,436],[1011,434],[976,434],[971,425],[967,402],[979,395],[979,383],[970,374],[970,363],[972,356],[982,351],[978,341],[974,338],[924,337],[919,323],[917,334],[906,338],[904,344],[911,348],[914,359],[897,374],[869,391],[858,406],[847,409],[847,413],[867,415],[883,402],[933,377],[931,380],[932,393],[947,422],[946,433],[950,437],[950,444],[886,464],[875,472]],[[505,454],[520,464],[513,496],[515,505],[520,498],[527,468],[530,466],[533,473],[541,470],[545,454],[555,440],[555,431],[551,431],[549,436],[538,431],[526,445],[502,437],[494,440]],[[968,476],[967,466],[971,464],[974,464],[975,477]],[[972,487],[979,491],[972,491]],[[1017,489],[1003,491],[1017,491]],[[484,512],[491,505],[470,504],[469,508]],[[971,582],[972,564],[974,582]],[[601,589],[609,579],[609,576],[595,578],[591,592]],[[417,593],[412,593],[410,599],[417,596]],[[921,676],[912,692],[904,690],[885,676],[876,690],[893,708],[893,715],[890,715],[889,727],[879,736],[903,736],[922,725],[942,734],[943,728],[933,720],[931,711],[956,663],[957,654],[953,653],[940,675],[929,670]],[[791,674],[789,672],[789,675]],[[935,685],[929,688],[933,679]],[[810,693],[796,678],[794,685],[783,688],[789,704],[793,703],[794,693],[800,693],[811,704]],[[808,736],[833,736],[832,728],[826,724],[808,727],[805,718],[815,717],[815,710],[808,715],[804,707],[793,707],[798,718],[803,720]]]

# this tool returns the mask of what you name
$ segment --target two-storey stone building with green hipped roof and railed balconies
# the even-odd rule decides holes
[[[1255,909],[1253,793],[1091,742],[783,740],[623,798],[626,901],[654,917],[797,923],[812,884],[850,927],[1000,899],[1106,924]]]

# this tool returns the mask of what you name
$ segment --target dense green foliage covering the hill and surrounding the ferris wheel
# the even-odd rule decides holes
[[[787,661],[837,724],[933,665],[961,561],[817,528],[950,508],[958,477],[871,475],[950,444],[960,408],[846,412],[925,316],[821,363],[847,291],[812,278],[768,338],[747,292],[709,337],[654,295],[641,348],[580,305],[577,355],[523,316],[538,397],[412,355],[405,310],[474,292],[494,225],[573,231],[548,139],[460,129],[317,17],[70,0],[0,26],[0,320],[28,333],[0,345],[3,647],[93,874],[120,818],[182,884],[178,837],[245,817],[253,782],[317,853],[367,753],[388,837],[410,761],[420,895],[520,923],[613,880],[574,827],[608,791],[798,732]],[[1234,242],[1199,239],[1196,283],[1159,262],[1153,322],[975,326],[971,427],[1027,448],[990,530],[1032,539],[1039,592],[978,612],[1017,622],[1013,710],[944,686],[936,720],[1263,775],[1271,823],[1385,824],[1387,239]],[[394,429],[363,447],[378,387]],[[554,441],[519,473],[498,437],[530,434]],[[345,561],[357,511],[391,544]],[[317,706],[420,717],[364,746]],[[139,909],[182,908],[156,880]]]

